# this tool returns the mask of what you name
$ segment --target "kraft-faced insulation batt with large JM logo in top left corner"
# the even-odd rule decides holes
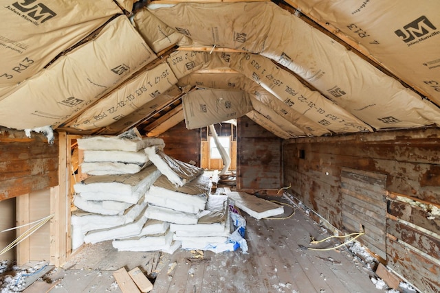
[[[0,88],[14,89],[112,16],[122,13],[113,0],[33,2],[3,1],[1,5]]]

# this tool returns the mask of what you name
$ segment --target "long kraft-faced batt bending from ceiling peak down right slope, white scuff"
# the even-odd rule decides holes
[[[280,62],[376,129],[408,128],[438,122],[423,121],[417,113],[406,111],[405,104],[419,102],[420,108],[440,113],[423,104],[416,93],[406,90],[396,80],[274,3],[179,3],[151,12],[197,43],[240,47]],[[217,20],[223,18],[223,23],[230,26],[222,27],[222,31],[214,30]],[[265,23],[272,25],[267,28]],[[240,44],[237,38],[241,40]],[[346,69],[353,70],[356,75],[342,75]],[[374,76],[373,80],[369,75]],[[396,93],[399,93],[399,101],[389,107],[383,97],[393,97]],[[346,100],[349,102],[344,103]]]

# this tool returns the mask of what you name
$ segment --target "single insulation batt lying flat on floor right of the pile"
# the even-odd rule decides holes
[[[283,206],[263,198],[252,196],[251,194],[246,194],[245,192],[232,191],[228,193],[228,196],[236,207],[258,220],[284,213]]]

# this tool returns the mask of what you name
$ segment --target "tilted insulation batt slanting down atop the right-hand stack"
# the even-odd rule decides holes
[[[190,182],[190,180],[203,174],[203,169],[173,159],[155,146],[145,148],[144,150],[148,159],[176,186],[183,186]]]

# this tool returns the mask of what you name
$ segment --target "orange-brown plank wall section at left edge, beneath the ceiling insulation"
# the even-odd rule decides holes
[[[58,136],[0,128],[0,200],[58,185]]]

